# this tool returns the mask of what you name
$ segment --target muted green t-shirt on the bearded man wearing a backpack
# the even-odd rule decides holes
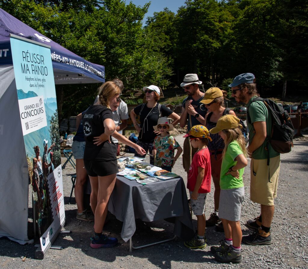
[[[248,104],[247,104],[247,112],[249,112],[249,116],[251,119],[251,122],[248,122],[248,116],[246,118],[247,127],[249,129],[249,145],[251,144],[253,137],[255,135],[255,130],[253,127],[253,122],[265,122],[266,124],[266,134],[270,134],[272,131],[272,117],[269,115],[269,111],[267,110],[267,107],[265,106],[263,101],[256,101],[251,102],[254,98],[257,96],[253,96]],[[248,115],[248,113],[247,113]],[[261,160],[261,159],[267,159],[268,157],[268,151],[266,149],[266,141],[264,140],[263,144],[258,147],[252,154],[253,159]],[[277,151],[275,151],[272,146],[268,145],[269,151],[270,151],[270,158],[276,157],[279,155]]]

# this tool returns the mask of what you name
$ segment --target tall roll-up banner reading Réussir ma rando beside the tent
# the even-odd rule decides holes
[[[17,36],[11,36],[10,43],[33,207],[44,251],[65,221],[51,51],[49,46]]]

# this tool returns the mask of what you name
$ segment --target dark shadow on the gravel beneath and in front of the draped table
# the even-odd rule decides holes
[[[93,222],[78,221],[75,219],[76,210],[67,210],[66,212],[65,229],[72,230],[71,234],[60,234],[55,241],[55,245],[60,245],[63,248],[73,247],[81,249],[85,255],[104,262],[113,262],[116,259],[129,260],[130,257],[138,257],[147,260],[145,263],[154,264],[155,266],[171,267],[172,261],[177,262],[213,262],[213,256],[206,247],[205,250],[191,250],[184,247],[184,242],[181,239],[175,239],[163,244],[145,247],[142,249],[129,252],[129,241],[124,242],[120,238],[122,230],[122,222],[117,220],[114,215],[108,213],[108,222],[104,226],[104,233],[109,236],[117,237],[119,244],[113,248],[92,249],[90,247],[90,237],[93,233]],[[193,220],[194,227],[197,226],[197,221]],[[135,247],[154,243],[172,237],[173,224],[165,220],[154,222],[144,222],[136,219],[136,233],[132,241]],[[148,264],[148,265],[149,265]],[[148,266],[145,266],[148,267]]]

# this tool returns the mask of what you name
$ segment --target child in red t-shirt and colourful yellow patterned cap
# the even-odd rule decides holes
[[[187,188],[190,194],[191,207],[197,216],[197,233],[193,239],[184,242],[189,248],[206,247],[205,237],[205,198],[211,191],[211,163],[208,145],[209,130],[203,125],[193,126],[188,134],[191,146],[198,148],[189,167]]]

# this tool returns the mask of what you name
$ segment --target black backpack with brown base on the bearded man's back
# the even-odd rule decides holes
[[[272,132],[266,134],[267,143],[270,143],[279,153],[289,153],[293,147],[294,127],[288,112],[270,99],[257,97],[252,102],[256,101],[263,101],[272,116]],[[247,108],[247,120],[251,124],[248,111],[249,107]]]

